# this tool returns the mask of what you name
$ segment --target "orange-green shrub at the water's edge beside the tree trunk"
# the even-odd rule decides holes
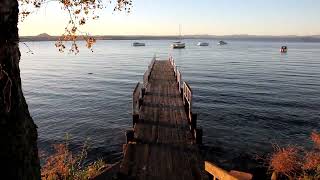
[[[43,180],[84,180],[100,174],[107,166],[103,160],[84,166],[87,157],[87,143],[83,145],[78,155],[73,155],[68,149],[68,140],[65,144],[55,144],[55,153],[46,158],[41,168],[41,179]]]

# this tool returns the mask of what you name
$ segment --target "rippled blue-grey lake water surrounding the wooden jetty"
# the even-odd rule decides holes
[[[93,53],[82,47],[76,56],[60,54],[54,42],[27,43],[33,55],[21,44],[23,91],[40,149],[69,133],[74,151],[90,138],[91,160],[119,160],[132,127],[132,91],[154,54],[176,59],[193,89],[204,145],[226,159],[269,153],[272,143],[305,145],[320,130],[320,44],[287,43],[281,54],[276,42],[198,47],[186,40],[182,50],[170,49],[169,40],[144,42],[98,41]]]

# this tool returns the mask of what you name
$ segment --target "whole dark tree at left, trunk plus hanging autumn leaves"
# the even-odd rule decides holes
[[[61,43],[70,40],[68,38],[74,38],[71,40],[75,42],[79,36],[78,26],[88,20],[87,15],[106,5],[101,0],[58,2],[70,14],[69,25],[62,36],[66,39],[60,39],[58,42]],[[19,3],[20,15],[24,17],[31,12],[24,11],[25,5],[31,6],[32,10],[40,8],[46,0],[19,0]],[[0,176],[6,179],[40,179],[37,126],[30,116],[20,78],[19,3],[18,0],[0,0]],[[115,9],[128,10],[127,6],[131,6],[131,0],[117,0]],[[83,38],[90,48],[94,40],[87,36]],[[60,48],[60,44],[57,47]]]

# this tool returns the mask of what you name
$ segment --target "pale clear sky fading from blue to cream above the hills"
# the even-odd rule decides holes
[[[115,0],[112,0],[115,1]],[[130,14],[98,12],[91,35],[320,35],[319,0],[133,0]],[[61,35],[68,22],[51,2],[19,23],[21,36]]]

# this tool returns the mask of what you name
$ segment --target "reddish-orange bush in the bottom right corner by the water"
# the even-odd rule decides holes
[[[320,134],[312,132],[311,140],[314,143],[311,149],[292,145],[285,148],[275,146],[269,169],[289,179],[320,179]]]

